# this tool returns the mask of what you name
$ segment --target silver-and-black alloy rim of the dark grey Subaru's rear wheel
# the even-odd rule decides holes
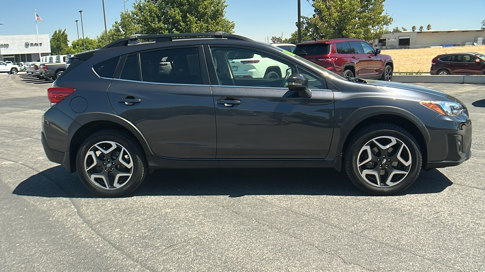
[[[84,157],[89,180],[105,190],[115,190],[128,183],[133,174],[133,160],[128,150],[113,141],[93,145]]]

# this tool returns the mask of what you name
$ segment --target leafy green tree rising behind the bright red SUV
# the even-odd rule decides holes
[[[392,17],[384,13],[385,0],[312,0],[314,15],[302,16],[311,39],[380,38]]]

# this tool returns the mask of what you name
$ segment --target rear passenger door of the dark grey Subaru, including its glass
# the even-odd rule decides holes
[[[202,45],[171,47],[120,60],[110,103],[159,156],[215,158],[214,102],[201,52]]]

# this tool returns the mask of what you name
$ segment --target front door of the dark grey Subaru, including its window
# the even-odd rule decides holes
[[[326,156],[333,133],[334,100],[324,80],[256,49],[211,46],[210,53],[213,67],[209,69],[218,82],[212,85],[217,158]],[[234,73],[239,69],[245,72]],[[286,78],[292,73],[309,79],[311,98],[288,90]]]

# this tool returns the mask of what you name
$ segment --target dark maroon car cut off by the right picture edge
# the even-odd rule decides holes
[[[485,75],[485,55],[475,52],[448,53],[431,61],[430,75]]]

